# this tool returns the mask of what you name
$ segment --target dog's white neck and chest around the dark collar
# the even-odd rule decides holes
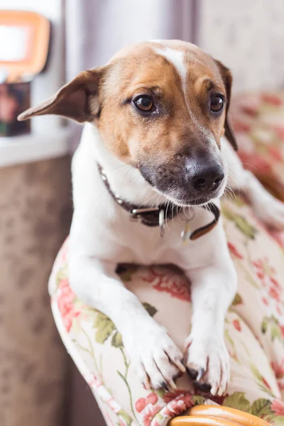
[[[180,214],[173,220],[168,219],[163,237],[160,236],[159,226],[131,222],[129,212],[113,200],[104,185],[96,160],[89,154],[92,148],[87,142],[85,140],[77,150],[72,163],[75,204],[72,239],[77,250],[114,263],[175,263],[180,267],[189,262],[196,265],[200,263],[200,258],[214,251],[212,241],[216,230],[197,241],[182,241],[181,234],[186,226],[190,236],[190,232],[212,222],[212,213],[201,207],[194,208],[194,215],[188,223],[186,217]],[[127,186],[126,180],[122,180],[120,185],[116,182],[117,189],[114,188],[113,192],[124,198],[121,191],[124,190],[127,195],[138,190],[137,180],[134,182],[133,187],[129,187],[130,184]],[[143,185],[139,188],[142,192]],[[143,204],[143,200],[136,204]]]

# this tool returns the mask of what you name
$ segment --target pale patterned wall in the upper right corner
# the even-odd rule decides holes
[[[198,44],[231,68],[234,92],[283,89],[283,0],[202,0]]]

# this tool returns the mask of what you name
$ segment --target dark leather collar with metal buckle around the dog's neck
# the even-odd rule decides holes
[[[109,194],[114,199],[114,201],[119,204],[126,212],[130,214],[130,220],[133,222],[140,222],[146,226],[160,226],[160,234],[161,236],[165,233],[165,222],[167,219],[172,219],[179,212],[182,212],[182,207],[173,204],[172,202],[167,204],[160,204],[157,207],[143,207],[137,206],[136,204],[131,204],[125,200],[121,200],[119,195],[114,194],[109,185],[109,181],[107,180],[107,176],[104,173],[104,170],[101,165],[98,163],[99,175],[104,182],[104,185],[107,187]],[[219,219],[219,209],[212,202],[208,203],[206,206],[202,205],[204,209],[208,209],[210,212],[214,214],[214,219],[209,224],[202,226],[201,228],[195,229],[190,235],[187,236],[186,239],[195,240],[200,236],[207,234],[207,232],[211,231],[214,226],[217,225]],[[182,238],[185,239],[185,231],[182,232]]]

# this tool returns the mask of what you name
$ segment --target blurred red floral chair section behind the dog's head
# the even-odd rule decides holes
[[[284,201],[284,92],[241,94],[231,115],[244,167]]]

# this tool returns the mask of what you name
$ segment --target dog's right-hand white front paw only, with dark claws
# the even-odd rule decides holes
[[[185,342],[184,364],[200,391],[223,395],[229,383],[229,354],[224,339],[191,336]]]

